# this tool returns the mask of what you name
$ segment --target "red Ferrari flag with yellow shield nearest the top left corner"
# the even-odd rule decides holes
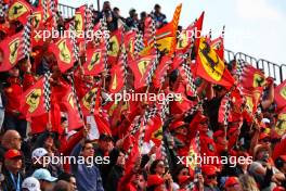
[[[27,23],[27,16],[31,12],[29,3],[24,0],[13,0],[8,10],[9,21],[20,21],[23,25]]]

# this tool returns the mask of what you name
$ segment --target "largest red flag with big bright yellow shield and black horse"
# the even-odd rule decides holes
[[[196,64],[197,76],[225,88],[231,88],[234,85],[234,78],[225,64],[203,37],[199,40]]]

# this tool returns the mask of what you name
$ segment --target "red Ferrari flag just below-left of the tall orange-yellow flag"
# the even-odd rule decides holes
[[[155,62],[156,55],[144,56],[138,61],[129,63],[129,67],[134,74],[134,88],[140,89],[146,85],[148,73]]]

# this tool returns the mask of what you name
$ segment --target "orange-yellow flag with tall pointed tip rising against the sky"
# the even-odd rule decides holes
[[[179,25],[182,4],[179,4],[173,13],[172,21],[155,33],[156,44],[159,51],[166,52],[171,55],[177,47],[177,29]],[[146,55],[152,52],[154,48],[154,38],[148,35],[148,39],[145,41],[145,49],[141,54]]]

